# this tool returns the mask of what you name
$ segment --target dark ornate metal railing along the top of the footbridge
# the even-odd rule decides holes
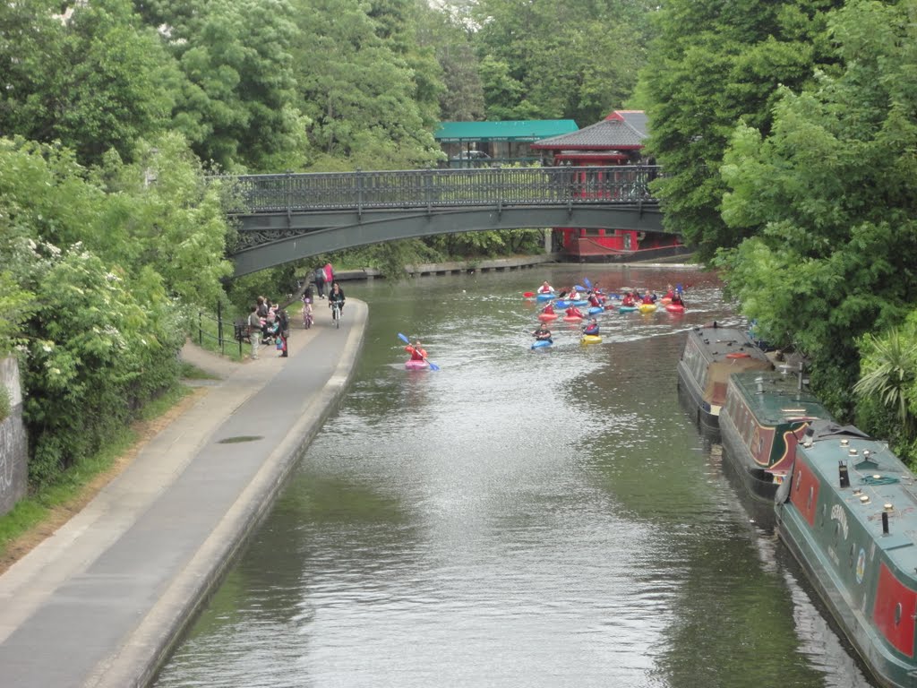
[[[229,212],[308,212],[461,205],[656,203],[659,168],[527,167],[218,176]]]

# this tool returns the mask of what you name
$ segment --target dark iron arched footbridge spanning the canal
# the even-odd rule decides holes
[[[661,232],[654,166],[215,176],[236,275],[319,253],[436,234],[542,227]]]

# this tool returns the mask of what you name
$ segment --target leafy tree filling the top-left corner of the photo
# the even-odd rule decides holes
[[[60,140],[83,163],[169,124],[179,73],[128,0],[72,6],[43,0],[0,6],[0,128]]]

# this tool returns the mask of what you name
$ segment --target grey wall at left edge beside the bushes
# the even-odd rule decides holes
[[[28,487],[28,439],[22,421],[19,363],[13,356],[0,360],[0,516],[12,509]],[[8,410],[6,401],[8,400]]]

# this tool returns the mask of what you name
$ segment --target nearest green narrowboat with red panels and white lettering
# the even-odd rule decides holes
[[[917,685],[917,478],[885,442],[815,420],[777,491],[777,532],[883,686]]]

